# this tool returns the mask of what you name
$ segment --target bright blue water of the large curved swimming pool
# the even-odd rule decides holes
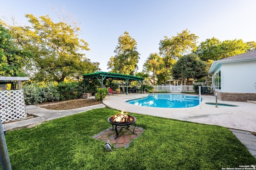
[[[147,107],[184,108],[198,106],[199,96],[160,93],[149,94],[146,98],[134,99],[126,102]]]

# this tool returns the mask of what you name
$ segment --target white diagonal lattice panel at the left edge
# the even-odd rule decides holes
[[[0,115],[2,122],[14,121],[27,116],[22,90],[0,91]]]

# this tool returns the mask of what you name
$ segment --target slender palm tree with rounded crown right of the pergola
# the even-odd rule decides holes
[[[146,60],[146,63],[143,65],[144,72],[148,74],[152,73],[153,85],[155,85],[156,74],[163,68],[164,61],[162,57],[159,57],[157,53],[152,53]]]

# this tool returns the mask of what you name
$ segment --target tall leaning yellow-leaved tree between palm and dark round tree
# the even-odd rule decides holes
[[[168,38],[165,36],[164,40],[160,40],[159,51],[165,65],[161,76],[164,78],[164,84],[171,76],[170,69],[176,63],[176,59],[180,58],[182,53],[196,50],[197,39],[198,36],[186,29],[182,33],[177,33],[176,37]]]

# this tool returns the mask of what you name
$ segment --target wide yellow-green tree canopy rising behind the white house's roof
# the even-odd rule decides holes
[[[255,49],[254,41],[244,43],[242,39],[220,41],[216,38],[206,39],[198,46],[195,53],[203,61],[220,60]]]

